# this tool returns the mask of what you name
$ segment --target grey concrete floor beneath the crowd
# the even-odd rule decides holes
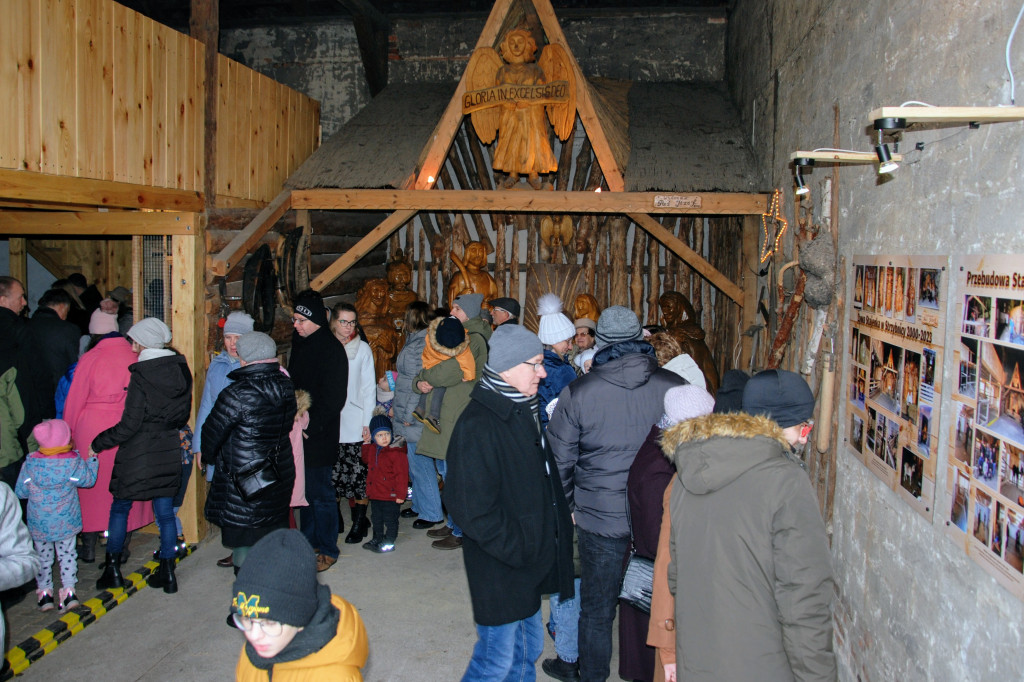
[[[370,635],[364,679],[458,680],[476,641],[462,551],[431,548],[426,532],[412,528],[412,519],[401,520],[391,554],[374,554],[359,545],[341,547],[341,558],[319,574],[321,582],[362,615]],[[224,624],[232,573],[215,562],[225,554],[219,537],[208,539],[178,565],[176,595],[140,590],[32,664],[20,679],[65,679],[70,673],[79,679],[118,682],[230,679],[243,638]],[[132,569],[139,564],[134,557],[129,562]],[[81,571],[83,599],[94,594],[87,588],[97,574],[91,567]],[[34,599],[29,595],[26,602],[31,603],[23,602],[7,614],[12,643],[20,641],[13,631],[25,631],[26,624],[18,628],[18,612],[31,611]],[[547,600],[542,608],[547,622]],[[617,634],[613,639],[612,679],[618,679]],[[545,637],[541,660],[554,655],[551,639]],[[550,679],[540,664],[538,679]]]

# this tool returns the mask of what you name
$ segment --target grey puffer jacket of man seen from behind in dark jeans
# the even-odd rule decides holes
[[[562,389],[547,437],[577,526],[607,538],[630,535],[630,466],[665,413],[666,391],[685,383],[646,352],[628,352],[595,365]]]

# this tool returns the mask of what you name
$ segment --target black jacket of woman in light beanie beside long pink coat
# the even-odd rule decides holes
[[[135,363],[121,421],[92,440],[120,445],[111,494],[121,500],[173,498],[181,482],[181,434],[191,412],[191,373],[177,353]]]

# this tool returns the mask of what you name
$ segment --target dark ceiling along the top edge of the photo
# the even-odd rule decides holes
[[[182,33],[188,32],[191,0],[120,0],[121,4]],[[730,0],[552,0],[555,11],[639,11],[645,8],[724,9]],[[306,24],[354,11],[384,15],[487,12],[494,0],[220,0],[220,28]],[[364,8],[364,9],[360,9]],[[349,9],[353,8],[353,9]]]

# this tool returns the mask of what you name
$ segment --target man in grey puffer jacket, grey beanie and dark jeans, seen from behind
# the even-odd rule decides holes
[[[657,366],[654,348],[642,338],[632,310],[605,308],[597,321],[593,368],[562,389],[548,423],[548,440],[580,545],[584,681],[605,680],[609,674],[611,627],[630,545],[630,466],[662,417],[666,391],[686,383]]]

